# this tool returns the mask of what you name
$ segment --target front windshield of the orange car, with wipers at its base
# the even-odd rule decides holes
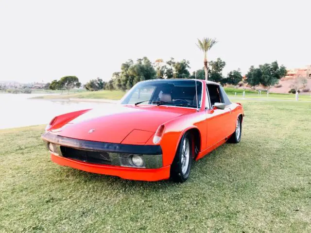
[[[154,80],[137,83],[121,104],[154,104],[196,108],[201,106],[202,83],[194,80]]]

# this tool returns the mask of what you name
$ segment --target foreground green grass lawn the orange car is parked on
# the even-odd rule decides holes
[[[0,232],[311,232],[311,103],[241,102],[242,141],[183,184],[58,166],[44,126],[0,130]]]

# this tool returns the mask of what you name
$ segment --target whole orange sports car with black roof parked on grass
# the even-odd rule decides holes
[[[241,140],[243,107],[222,85],[161,79],[137,83],[111,108],[56,116],[42,139],[52,161],[124,179],[185,182],[191,163]]]

